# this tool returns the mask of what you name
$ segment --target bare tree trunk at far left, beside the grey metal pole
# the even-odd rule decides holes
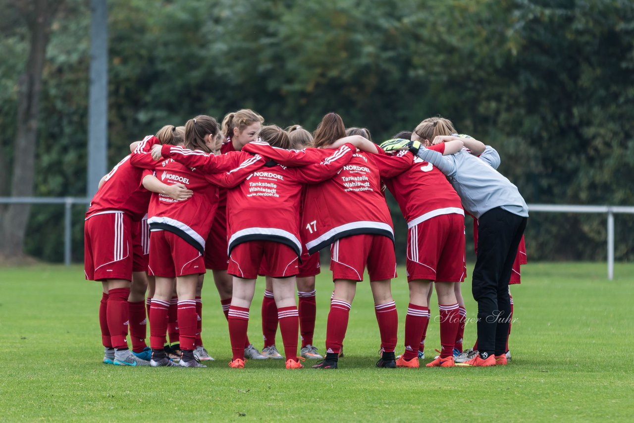
[[[29,196],[34,190],[34,169],[39,116],[42,71],[51,21],[61,0],[11,1],[27,24],[30,32],[29,58],[18,81],[18,110],[16,119],[11,196]],[[22,256],[25,231],[29,223],[30,205],[12,204],[1,214],[0,254],[5,257]]]

